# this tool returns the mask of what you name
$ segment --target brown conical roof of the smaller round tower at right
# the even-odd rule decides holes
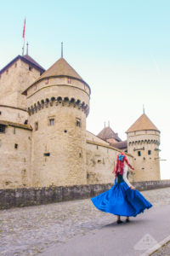
[[[143,113],[139,119],[136,120],[136,122],[133,123],[132,126],[126,131],[131,132],[131,131],[144,131],[144,130],[153,130],[153,131],[159,131],[156,128],[156,125],[150,121],[149,117]]]

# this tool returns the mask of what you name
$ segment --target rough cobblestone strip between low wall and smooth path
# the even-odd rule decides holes
[[[170,188],[142,194],[154,207],[170,205]],[[89,199],[2,210],[0,255],[37,255],[74,236],[101,230],[115,220],[114,215],[98,211]]]

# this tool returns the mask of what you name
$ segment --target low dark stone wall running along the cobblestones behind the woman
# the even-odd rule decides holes
[[[31,189],[0,189],[0,209],[28,207],[59,201],[90,198],[99,195],[113,184],[89,184],[71,187]],[[170,179],[133,183],[139,191],[170,187]]]

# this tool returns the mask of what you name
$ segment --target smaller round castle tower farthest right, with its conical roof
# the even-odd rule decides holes
[[[160,180],[160,131],[143,113],[126,133],[127,152],[133,155],[134,180]]]

